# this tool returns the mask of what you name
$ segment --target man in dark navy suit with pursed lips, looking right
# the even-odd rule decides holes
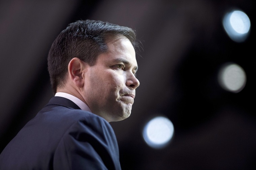
[[[108,122],[131,114],[137,45],[128,27],[69,24],[48,55],[55,97],[6,146],[0,169],[121,169]]]

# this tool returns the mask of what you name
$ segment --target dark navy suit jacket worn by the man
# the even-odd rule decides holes
[[[1,170],[121,169],[110,124],[72,101],[53,97],[0,155]]]

